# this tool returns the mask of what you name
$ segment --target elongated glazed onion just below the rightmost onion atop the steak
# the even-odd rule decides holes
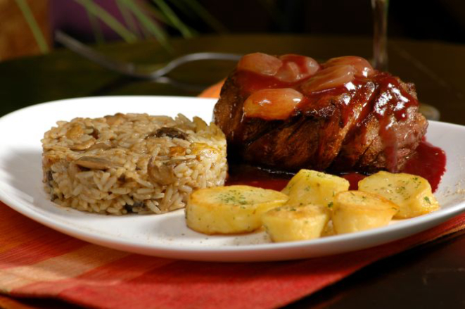
[[[333,65],[321,70],[302,84],[305,93],[319,92],[321,90],[341,87],[354,80],[355,69],[352,65]]]

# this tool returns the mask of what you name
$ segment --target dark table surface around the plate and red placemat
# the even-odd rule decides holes
[[[148,65],[200,51],[301,53],[321,60],[371,56],[371,39],[364,37],[228,35],[176,39],[172,45],[175,52],[171,54],[155,42],[114,43],[98,49],[122,61]],[[464,45],[390,39],[388,54],[390,72],[414,82],[419,100],[438,108],[440,120],[465,125]],[[170,77],[207,86],[222,80],[233,66],[227,61],[200,61],[178,68]],[[0,63],[0,89],[0,115],[79,96],[198,94],[170,84],[122,77],[64,49]],[[289,307],[461,308],[465,306],[464,272],[465,236],[456,233],[374,263]],[[53,303],[53,308],[62,305]]]

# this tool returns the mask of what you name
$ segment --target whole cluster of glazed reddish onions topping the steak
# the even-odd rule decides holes
[[[244,103],[246,117],[265,120],[286,119],[303,95],[338,87],[354,89],[354,80],[371,78],[377,72],[357,56],[331,58],[319,65],[307,56],[277,57],[266,53],[243,56],[237,70],[243,94],[248,98]]]

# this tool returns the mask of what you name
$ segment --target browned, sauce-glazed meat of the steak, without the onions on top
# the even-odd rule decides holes
[[[413,84],[387,73],[358,79],[350,90],[306,94],[286,120],[243,115],[250,85],[241,82],[250,76],[241,74],[234,71],[227,78],[214,111],[215,122],[227,136],[230,158],[280,170],[394,172],[426,133],[428,123],[418,112]],[[285,86],[303,92],[300,85]],[[405,97],[409,101],[399,101]]]

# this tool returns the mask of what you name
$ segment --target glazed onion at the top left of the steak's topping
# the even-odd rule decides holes
[[[266,53],[249,53],[241,58],[237,64],[237,69],[273,76],[281,68],[281,65],[283,62],[274,56]]]

